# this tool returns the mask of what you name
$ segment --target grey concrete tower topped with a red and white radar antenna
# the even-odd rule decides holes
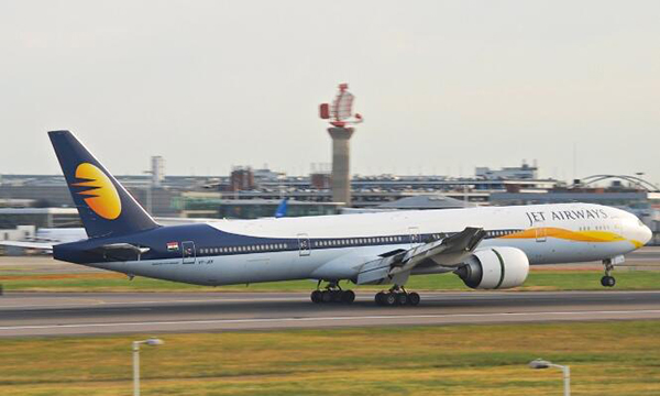
[[[332,105],[320,106],[321,119],[328,120],[332,138],[332,200],[351,206],[351,153],[349,141],[355,131],[352,125],[362,122],[362,116],[353,114],[353,99],[348,84],[339,85]]]

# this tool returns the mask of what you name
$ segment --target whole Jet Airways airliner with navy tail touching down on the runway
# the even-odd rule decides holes
[[[161,226],[69,132],[48,132],[88,239],[56,260],[220,286],[312,279],[316,304],[354,300],[341,280],[388,285],[382,306],[416,306],[411,275],[453,273],[471,288],[522,285],[529,265],[602,261],[603,286],[651,231],[624,210],[588,204],[476,207]],[[324,283],[324,286],[321,285]]]

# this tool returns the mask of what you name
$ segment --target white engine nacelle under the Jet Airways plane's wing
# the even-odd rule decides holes
[[[488,248],[474,252],[454,274],[465,286],[502,289],[522,285],[529,274],[529,258],[516,248]]]

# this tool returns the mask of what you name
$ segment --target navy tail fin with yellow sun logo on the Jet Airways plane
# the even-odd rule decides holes
[[[69,131],[48,136],[89,238],[160,227]]]

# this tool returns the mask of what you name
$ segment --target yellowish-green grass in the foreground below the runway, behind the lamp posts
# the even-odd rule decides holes
[[[144,395],[660,394],[660,322],[161,334],[142,349]],[[0,340],[0,394],[129,395],[132,340]]]

